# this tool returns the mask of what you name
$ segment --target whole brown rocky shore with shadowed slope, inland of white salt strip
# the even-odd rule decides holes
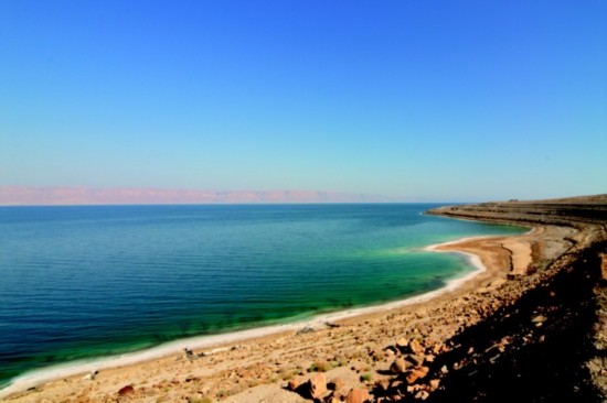
[[[426,247],[477,257],[484,266],[439,291],[319,315],[316,328],[57,379],[0,400],[603,401],[607,195],[426,213],[531,230]]]

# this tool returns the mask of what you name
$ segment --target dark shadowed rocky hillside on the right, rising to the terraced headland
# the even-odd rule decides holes
[[[512,305],[454,337],[454,345],[469,350],[444,356],[459,370],[443,379],[444,389],[432,401],[604,402],[607,195],[450,206],[427,214],[577,232],[566,237],[571,248],[561,258],[520,280],[536,277]],[[503,340],[508,348],[497,349]]]

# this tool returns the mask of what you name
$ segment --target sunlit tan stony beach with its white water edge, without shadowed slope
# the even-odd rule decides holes
[[[450,216],[457,217],[457,211]],[[552,336],[542,331],[550,329],[558,304],[565,308],[573,304],[573,297],[560,293],[551,297],[549,293],[546,301],[554,302],[554,307],[549,304],[543,309],[543,302],[539,302],[530,307],[533,317],[519,320],[520,326],[517,322],[517,326],[501,330],[498,325],[526,309],[530,303],[525,298],[537,287],[550,284],[557,287],[560,276],[568,273],[565,269],[581,262],[590,264],[588,261],[600,265],[598,253],[607,238],[600,217],[598,220],[590,217],[589,221],[569,217],[566,225],[545,218],[513,218],[508,214],[493,217],[464,214],[460,218],[512,222],[532,230],[518,237],[470,238],[429,247],[437,252],[466,253],[478,268],[436,292],[305,323],[179,340],[143,352],[53,368],[18,379],[0,392],[0,399],[8,402],[468,399],[461,393],[478,393],[475,391],[482,388],[479,381],[467,389],[464,381],[473,381],[479,371],[491,373],[496,368],[502,371],[517,357],[512,356],[515,351],[550,341]],[[577,272],[572,271],[571,275]],[[597,280],[600,274],[597,275],[593,281],[600,281]],[[573,284],[575,279],[567,281]],[[566,301],[558,302],[561,297]],[[482,326],[491,330],[479,333]],[[600,338],[604,328],[593,329],[584,337]],[[598,395],[605,366],[603,361],[593,361],[593,357],[587,359],[592,378],[587,388],[598,390]],[[460,389],[452,386],[456,381]],[[488,383],[486,396],[491,396],[496,388]],[[577,391],[590,393],[582,389]]]

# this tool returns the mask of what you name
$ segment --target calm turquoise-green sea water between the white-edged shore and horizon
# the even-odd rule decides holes
[[[524,231],[422,214],[435,206],[0,208],[0,384],[422,294],[472,270],[424,246]]]

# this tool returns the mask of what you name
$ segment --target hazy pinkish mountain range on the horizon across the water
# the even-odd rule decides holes
[[[0,186],[0,205],[3,206],[371,202],[397,200],[380,195],[313,190],[216,192],[135,187]]]

